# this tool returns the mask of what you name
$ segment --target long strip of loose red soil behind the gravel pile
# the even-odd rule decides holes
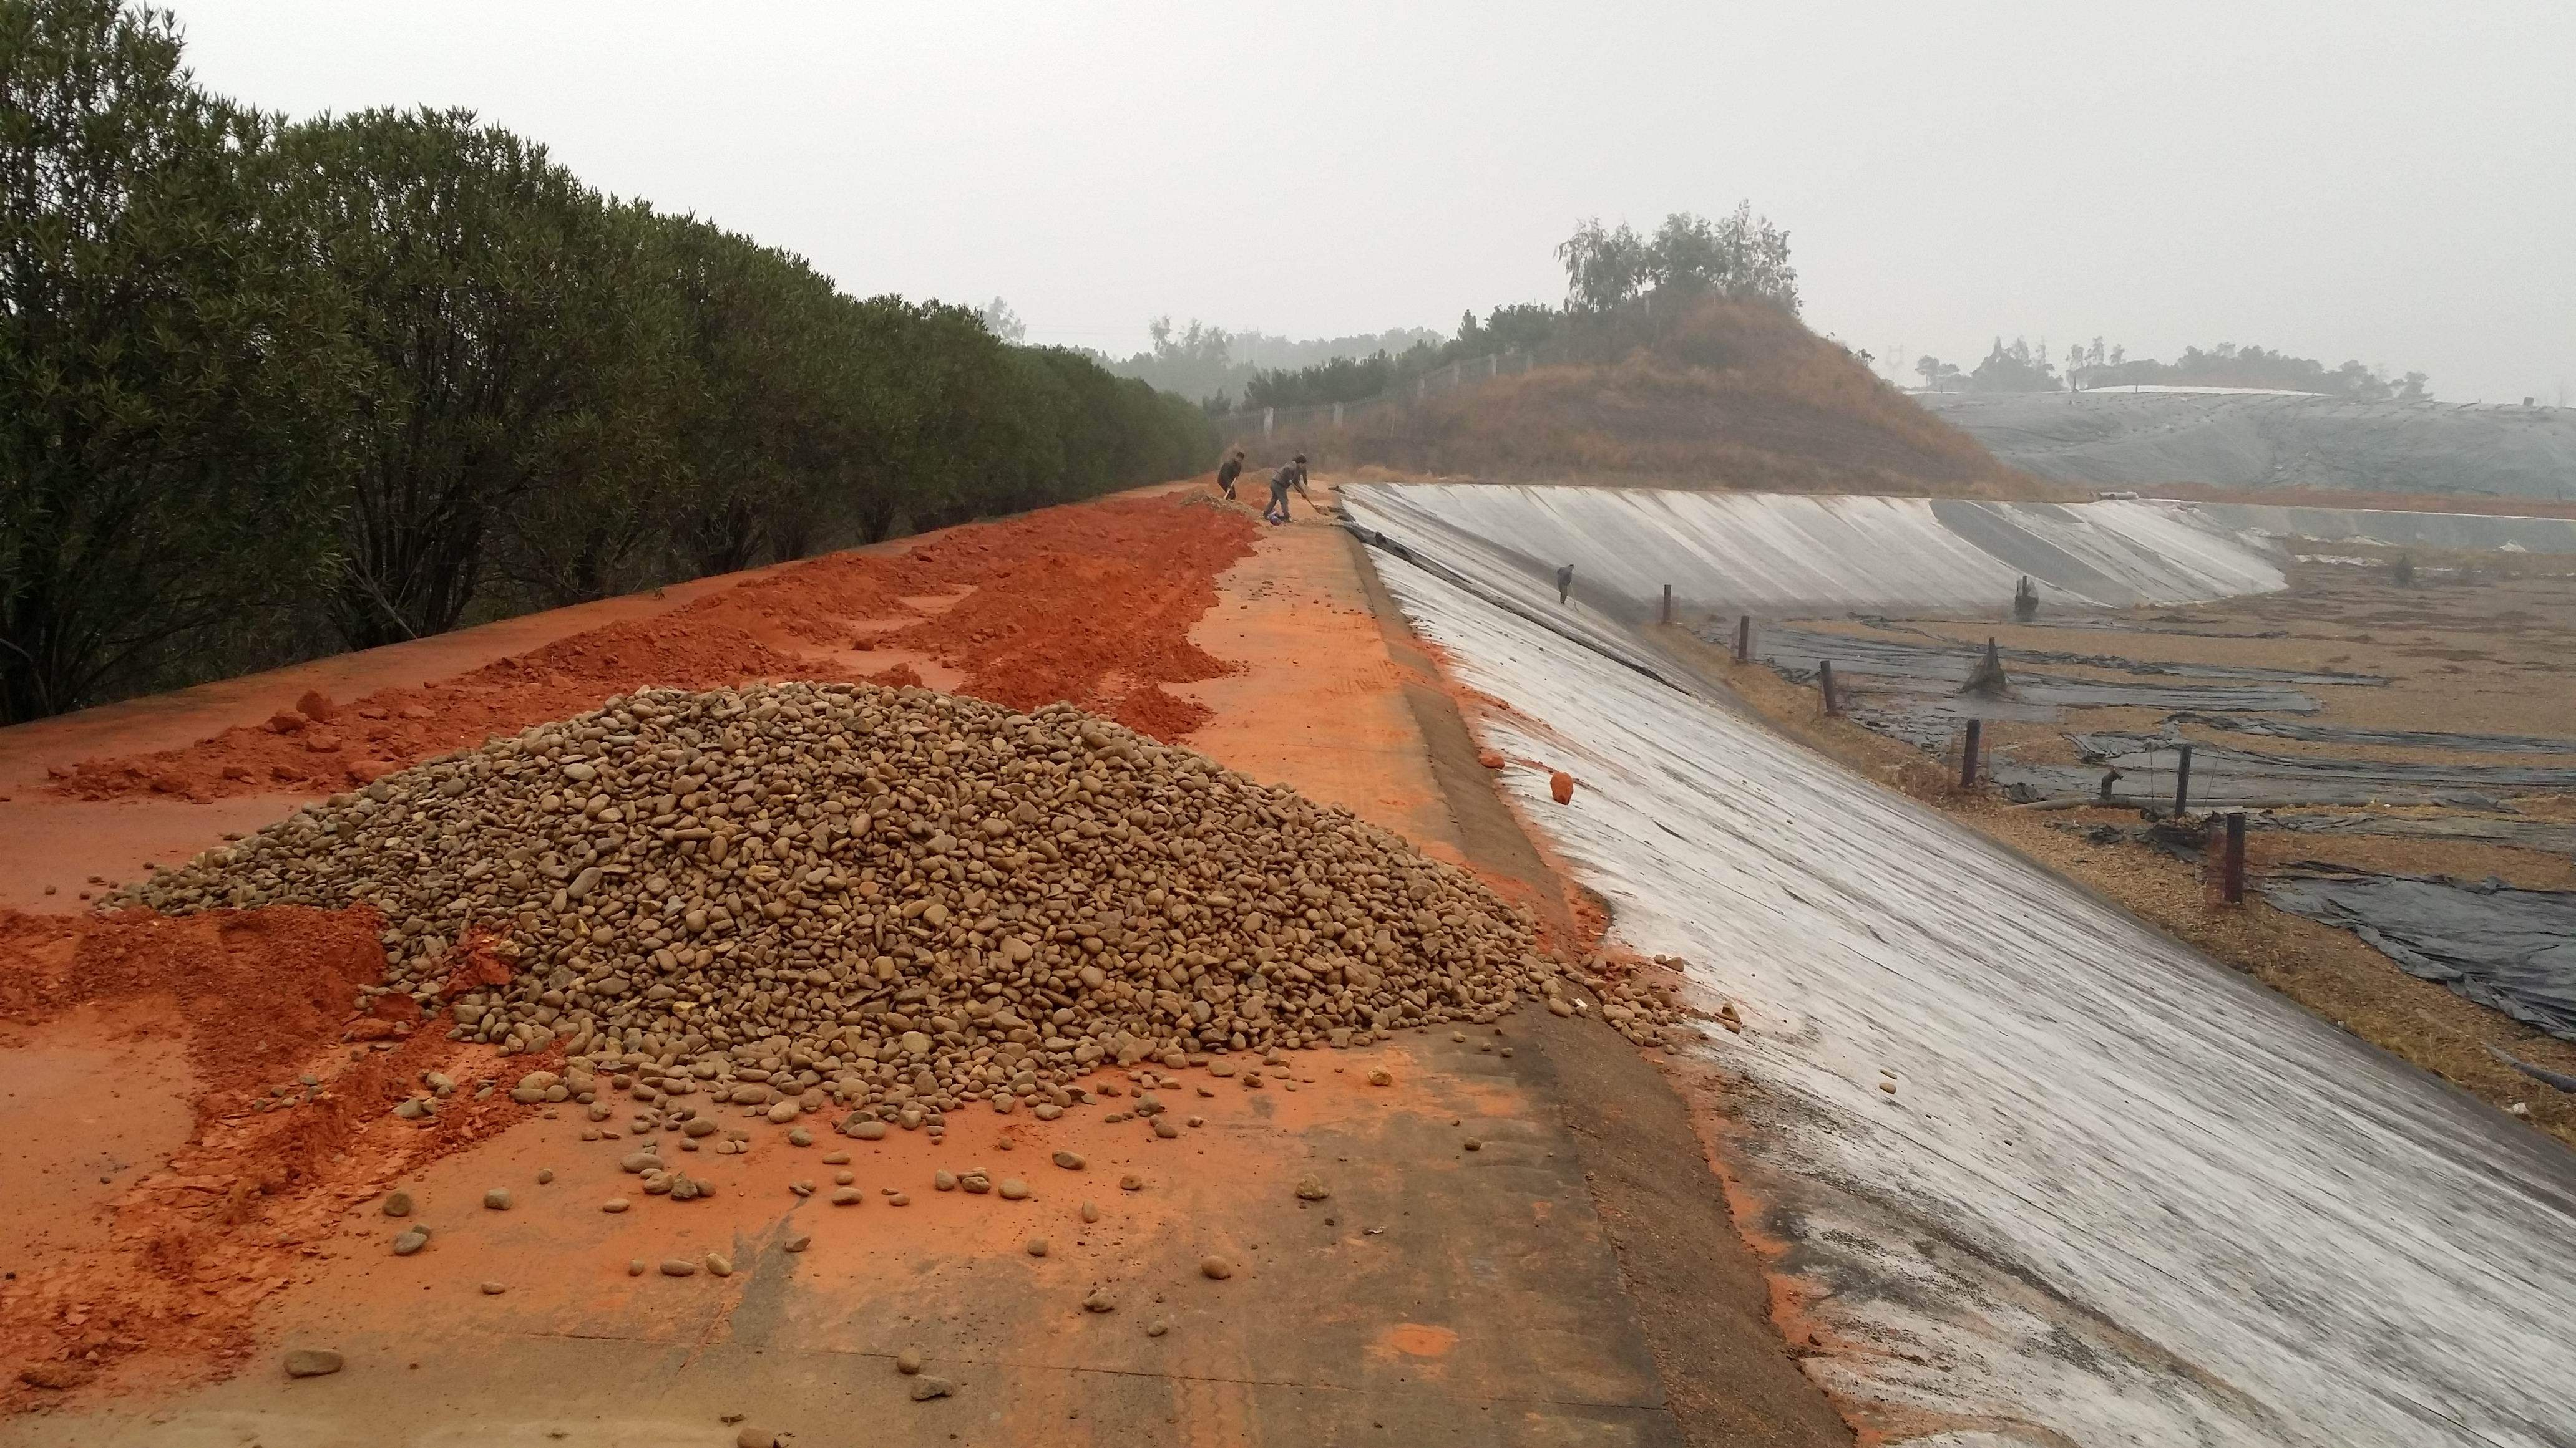
[[[644,685],[858,678],[835,657],[793,649],[827,654],[848,644],[850,624],[912,621],[920,611],[907,598],[958,590],[966,598],[956,608],[896,639],[966,672],[963,693],[1012,709],[1061,698],[1175,739],[1208,711],[1162,685],[1224,672],[1188,631],[1216,603],[1216,575],[1249,554],[1252,538],[1249,518],[1172,497],[976,523],[904,554],[832,554],[775,569],[659,618],[574,634],[425,688],[355,703],[307,693],[265,724],[180,750],[82,760],[57,770],[52,791],[198,801],[281,786],[335,794]]]

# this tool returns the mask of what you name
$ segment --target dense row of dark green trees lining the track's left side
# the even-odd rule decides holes
[[[600,196],[289,124],[0,0],[0,721],[1180,477],[1206,415]]]

